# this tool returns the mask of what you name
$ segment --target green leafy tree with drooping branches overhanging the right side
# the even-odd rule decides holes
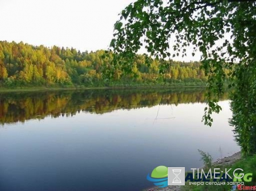
[[[234,87],[231,124],[243,154],[250,154],[256,152],[255,18],[254,0],[137,0],[121,12],[110,46],[117,59],[121,54],[126,60],[133,60],[141,46],[162,59],[187,56],[189,45],[199,50],[209,84],[205,124],[211,126],[212,112],[221,109],[217,101],[228,75]]]

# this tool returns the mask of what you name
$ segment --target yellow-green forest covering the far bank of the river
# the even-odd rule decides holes
[[[146,63],[138,55],[132,73],[113,68],[113,53],[105,50],[80,52],[74,48],[33,46],[0,41],[0,84],[2,87],[24,86],[118,86],[121,84],[204,83],[207,80],[199,62],[170,62],[168,70],[159,72],[160,61]],[[166,61],[167,62],[167,61]]]

